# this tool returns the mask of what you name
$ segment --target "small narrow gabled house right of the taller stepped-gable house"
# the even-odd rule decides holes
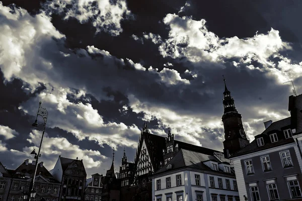
[[[103,187],[101,179],[103,175],[96,173],[91,176],[90,182],[85,186],[85,200],[101,201]]]

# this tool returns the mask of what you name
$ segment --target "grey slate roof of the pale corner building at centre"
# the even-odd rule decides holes
[[[192,162],[193,161],[193,162]],[[171,171],[170,169],[167,170],[167,166],[169,164],[172,165],[172,170],[174,169],[180,169],[184,167],[190,167],[190,168],[196,168],[199,170],[207,170],[207,171],[214,171],[210,167],[204,164],[206,161],[216,161],[219,162],[214,156],[196,152],[196,151],[191,151],[191,150],[186,150],[186,149],[181,149],[166,165],[164,165],[160,170],[158,170],[155,174],[160,174],[166,171]],[[219,171],[214,171],[214,172],[220,172],[224,173],[222,170],[219,169]],[[231,173],[234,174],[234,173]]]

